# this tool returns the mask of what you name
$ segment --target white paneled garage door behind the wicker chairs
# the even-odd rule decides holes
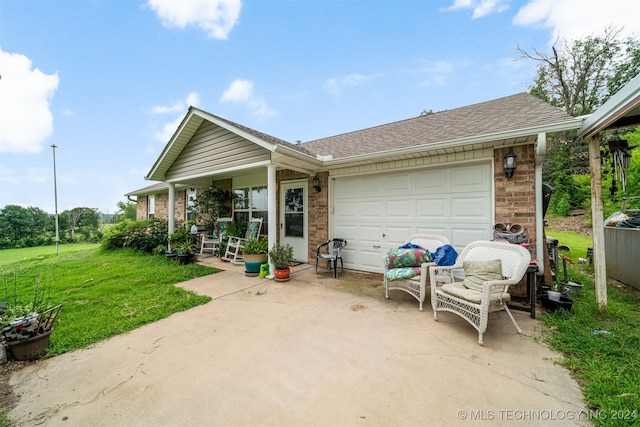
[[[416,233],[441,234],[459,251],[492,237],[489,163],[336,178],[333,236],[345,268],[382,272],[382,254]]]

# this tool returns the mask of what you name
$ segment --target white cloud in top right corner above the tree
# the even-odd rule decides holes
[[[520,8],[513,22],[522,26],[551,28],[557,39],[582,39],[602,34],[606,27],[622,28],[631,35],[638,32],[637,0],[530,0]]]

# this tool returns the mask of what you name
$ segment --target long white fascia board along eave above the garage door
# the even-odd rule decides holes
[[[415,154],[415,153],[424,152],[424,151],[436,151],[436,150],[443,150],[448,148],[464,147],[464,146],[473,145],[473,144],[484,144],[487,142],[499,141],[502,139],[512,139],[512,138],[520,138],[520,137],[529,136],[529,135],[537,135],[539,133],[574,130],[580,127],[580,125],[582,124],[582,121],[583,121],[583,118],[577,117],[566,122],[555,123],[552,125],[535,126],[531,128],[525,128],[525,129],[516,129],[511,131],[505,131],[505,132],[496,132],[496,133],[485,134],[485,135],[477,135],[477,136],[472,136],[467,138],[452,139],[449,141],[436,142],[432,144],[416,145],[413,147],[405,147],[405,148],[400,148],[396,150],[379,151],[376,153],[361,154],[357,156],[343,157],[336,160],[328,160],[323,163],[325,166],[328,167],[328,166],[341,165],[345,163],[352,163],[352,162],[357,162],[362,160],[387,158],[389,156],[408,155],[408,154]]]

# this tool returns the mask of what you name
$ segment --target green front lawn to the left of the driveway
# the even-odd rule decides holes
[[[56,255],[54,247],[50,255],[21,257],[12,263],[4,258],[0,259],[0,301],[26,305],[34,299],[39,277],[40,297],[46,298],[47,306],[63,304],[51,334],[49,355],[85,348],[204,304],[209,297],[174,284],[216,272],[132,250],[93,248]]]

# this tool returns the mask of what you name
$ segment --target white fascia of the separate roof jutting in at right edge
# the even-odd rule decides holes
[[[580,130],[578,137],[591,136],[605,128],[610,123],[633,109],[640,102],[640,74],[635,76],[626,85],[616,92],[607,102],[602,104],[589,118],[587,118]]]

